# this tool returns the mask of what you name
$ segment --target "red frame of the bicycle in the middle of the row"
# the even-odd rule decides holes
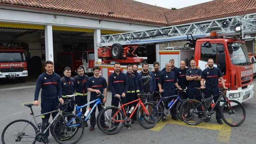
[[[119,100],[120,100],[120,99],[119,99]],[[121,102],[121,100],[120,100],[120,102]],[[126,103],[126,104],[122,104],[122,102],[121,102],[121,107],[118,109],[117,112],[115,112],[115,114],[113,115],[113,118],[115,118],[115,116],[118,114],[118,112],[119,112],[120,110],[122,110],[122,111],[124,112],[124,115],[127,116],[127,115],[126,115],[126,112],[125,112],[124,106],[126,106],[126,105],[128,105],[128,104],[131,104],[131,103],[134,103],[134,102],[138,102],[138,103],[136,104],[136,107],[135,107],[134,110],[132,111],[130,117],[133,116],[133,114],[135,113],[135,111],[137,110],[137,108],[138,108],[139,105],[141,105],[143,111],[146,112],[147,115],[149,115],[149,112],[147,111],[147,109],[145,108],[144,104],[142,103],[141,98],[138,98],[138,99],[136,99],[136,100],[134,100],[134,101],[132,101],[132,102],[128,102],[128,103]],[[125,121],[125,120],[115,120],[115,122],[124,122],[124,121]]]

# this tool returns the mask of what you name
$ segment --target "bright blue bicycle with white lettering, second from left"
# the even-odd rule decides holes
[[[100,101],[100,97],[104,97],[104,94],[103,94],[103,93],[99,93],[99,94],[96,96],[97,99],[95,99],[95,100],[93,100],[93,101],[91,101],[91,102],[89,102],[89,103],[87,103],[87,104],[84,104],[84,105],[82,105],[82,106],[77,106],[77,104],[76,104],[76,102],[75,102],[75,100],[74,100],[74,96],[77,96],[77,95],[66,95],[66,96],[67,96],[70,100],[72,100],[72,101],[74,102],[75,107],[76,107],[76,115],[77,115],[79,118],[81,118],[81,120],[83,120],[84,123],[89,120],[89,116],[91,115],[91,113],[93,112],[93,110],[96,109],[96,106],[97,106],[98,104],[101,104],[102,110],[106,108],[106,107],[102,104],[102,102]],[[93,107],[91,108],[91,110],[90,110],[89,114],[86,116],[86,118],[84,118],[84,115],[83,115],[83,113],[80,111],[80,109],[82,109],[83,107],[85,107],[85,106],[87,106],[87,105],[89,105],[89,104],[92,104],[92,103],[95,103],[95,104],[94,104]],[[66,109],[66,108],[65,108],[65,109]],[[101,110],[101,111],[102,111],[102,110]],[[99,113],[100,113],[101,111],[99,111]],[[98,119],[99,119],[99,113],[98,113],[98,115],[97,115],[97,117],[96,117],[96,124],[97,124],[98,128],[100,129],[101,125],[100,125],[100,123],[97,123],[97,122],[98,122]],[[69,113],[69,112],[63,112],[63,115],[67,115],[67,114],[70,114],[70,113]]]

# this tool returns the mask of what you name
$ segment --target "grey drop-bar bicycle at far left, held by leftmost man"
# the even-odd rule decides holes
[[[75,144],[77,143],[83,136],[84,128],[79,128],[78,125],[82,124],[82,120],[78,118],[74,114],[68,114],[68,115],[62,115],[60,106],[66,105],[70,103],[70,101],[65,102],[64,104],[59,104],[57,106],[57,110],[51,111],[48,113],[43,113],[40,115],[35,116],[34,112],[32,110],[33,104],[24,104],[24,106],[28,106],[31,110],[30,115],[33,116],[33,118],[29,120],[15,120],[13,122],[10,122],[2,132],[2,143],[3,144],[9,144],[9,143],[32,143],[34,144],[36,141],[38,142],[45,142],[46,136],[45,133],[47,130],[50,129],[52,136],[54,139],[60,143],[60,144]],[[40,129],[42,129],[42,123],[38,123],[36,120],[36,117],[46,115],[49,113],[55,113],[56,116],[53,118],[53,120],[48,124],[48,127],[45,129],[45,131],[40,132]],[[69,119],[71,118],[71,119]],[[33,122],[34,120],[35,125]],[[79,134],[79,136],[77,135]],[[10,135],[10,136],[9,136]],[[72,139],[71,139],[72,138]],[[76,138],[74,140],[74,138]],[[22,141],[24,140],[24,141]],[[68,141],[72,140],[72,141]]]

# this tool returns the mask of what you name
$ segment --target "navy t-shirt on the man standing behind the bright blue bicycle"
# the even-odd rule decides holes
[[[92,88],[95,90],[99,90],[101,93],[103,93],[104,88],[107,88],[107,81],[104,77],[98,77],[95,78],[94,76],[90,77],[87,80],[86,88]],[[96,92],[91,92],[90,96],[97,96],[98,94]]]

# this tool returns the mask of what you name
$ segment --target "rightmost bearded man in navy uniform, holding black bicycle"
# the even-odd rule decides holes
[[[223,86],[224,89],[227,89],[227,87],[225,87],[225,81],[222,77],[222,73],[221,70],[217,67],[213,66],[214,61],[213,59],[209,59],[208,60],[208,68],[206,68],[205,70],[203,70],[202,72],[202,81],[201,81],[201,88],[205,89],[205,98],[214,96],[214,95],[218,95],[219,94],[219,89],[218,89],[218,79],[221,80],[221,84]],[[204,85],[205,84],[205,85]],[[218,96],[213,97],[214,99],[214,103],[216,104],[217,100],[218,100]],[[211,107],[209,107],[209,110],[211,109]],[[218,102],[218,104],[215,106],[215,111],[216,111],[216,120],[217,122],[221,125],[223,124],[222,120],[221,120],[221,107],[220,107],[220,103]],[[209,122],[210,118],[205,119],[205,122]]]

